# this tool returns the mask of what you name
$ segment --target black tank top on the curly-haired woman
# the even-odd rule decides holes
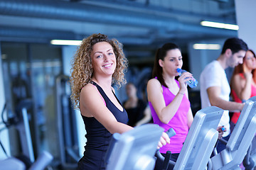
[[[119,109],[114,106],[114,103],[110,101],[110,98],[107,97],[102,88],[94,81],[92,81],[92,84],[97,87],[98,91],[105,100],[107,108],[111,111],[117,121],[127,124],[128,116],[124,108],[123,111],[119,111]],[[115,98],[117,98],[117,96],[115,96]],[[117,101],[119,102],[118,98]],[[105,169],[105,154],[107,152],[107,147],[110,143],[112,134],[93,117],[87,118],[82,115],[82,120],[85,123],[85,137],[87,142],[85,145],[84,156],[78,162],[78,169]]]

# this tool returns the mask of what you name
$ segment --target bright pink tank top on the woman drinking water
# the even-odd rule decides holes
[[[178,84],[178,81],[176,81]],[[179,84],[178,84],[179,87]],[[166,103],[166,106],[171,103],[171,101],[174,100],[175,95],[169,91],[168,88],[165,86],[162,86],[163,88],[163,96],[164,101]],[[188,98],[186,95],[183,96],[181,105],[178,108],[178,111],[174,115],[173,118],[169,121],[168,124],[162,123],[157,114],[156,111],[154,111],[154,108],[149,102],[149,106],[151,109],[151,115],[154,121],[154,124],[159,125],[161,128],[164,128],[164,131],[169,130],[169,128],[173,128],[176,132],[176,135],[174,137],[171,137],[170,144],[164,145],[164,147],[160,148],[160,152],[166,154],[167,151],[171,151],[171,153],[176,154],[181,152],[181,148],[183,147],[183,142],[185,142],[186,136],[188,135],[188,111],[191,107],[190,102],[188,101]]]

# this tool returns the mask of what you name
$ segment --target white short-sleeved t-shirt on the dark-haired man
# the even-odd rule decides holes
[[[220,86],[220,98],[225,101],[230,101],[230,85],[228,83],[228,78],[225,74],[225,70],[223,69],[223,67],[221,67],[220,63],[217,60],[214,60],[213,62],[210,62],[208,65],[206,65],[200,76],[200,96],[202,108],[211,106],[206,91],[211,86]],[[225,110],[219,123],[219,125],[224,125],[227,130],[226,132],[224,132],[223,137],[226,137],[230,134],[229,122],[229,112]]]

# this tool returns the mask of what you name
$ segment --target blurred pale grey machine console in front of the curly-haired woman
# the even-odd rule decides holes
[[[162,132],[159,125],[146,124],[122,135],[115,133],[106,154],[107,170],[154,169],[154,154]]]

